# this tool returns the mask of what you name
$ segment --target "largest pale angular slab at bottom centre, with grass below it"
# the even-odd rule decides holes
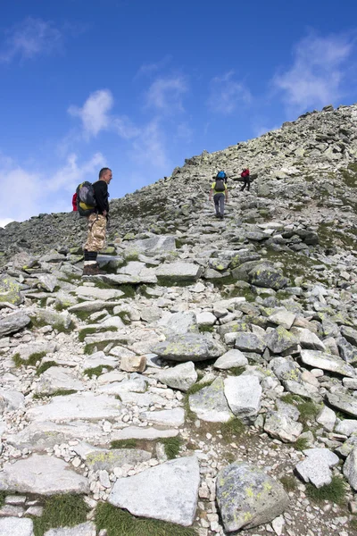
[[[115,482],[108,502],[133,515],[190,526],[195,521],[200,469],[182,457]]]

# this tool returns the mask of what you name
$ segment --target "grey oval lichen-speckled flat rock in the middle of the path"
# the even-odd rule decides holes
[[[219,357],[225,352],[223,345],[212,339],[209,334],[195,333],[168,337],[164,342],[155,344],[151,349],[154,354],[165,359],[194,362]]]

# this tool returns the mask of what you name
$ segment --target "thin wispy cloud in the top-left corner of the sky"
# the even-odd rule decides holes
[[[62,32],[51,21],[29,17],[7,32],[0,50],[0,61],[9,63],[15,57],[28,60],[39,54],[52,54],[62,47]]]

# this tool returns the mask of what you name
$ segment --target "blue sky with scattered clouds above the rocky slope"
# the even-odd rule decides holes
[[[121,197],[355,103],[356,21],[355,0],[0,2],[0,226],[71,211],[103,166]]]

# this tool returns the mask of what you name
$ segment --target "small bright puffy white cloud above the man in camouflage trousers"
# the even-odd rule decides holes
[[[70,106],[68,112],[80,118],[85,136],[96,136],[101,130],[108,130],[111,117],[108,114],[112,109],[114,100],[109,89],[99,89],[88,96],[82,108]]]

